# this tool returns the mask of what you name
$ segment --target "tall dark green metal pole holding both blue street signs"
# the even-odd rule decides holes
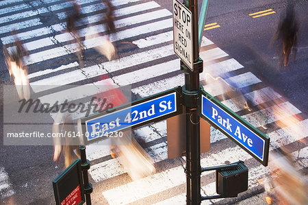
[[[183,87],[184,104],[186,107],[186,203],[201,204],[201,165],[200,165],[200,118],[196,110],[199,88],[199,73],[203,71],[203,62],[198,52],[198,1],[185,0],[185,6],[192,12],[192,40],[194,71],[181,62],[181,70],[185,73]]]

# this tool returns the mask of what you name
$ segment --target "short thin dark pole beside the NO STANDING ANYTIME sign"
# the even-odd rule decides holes
[[[90,193],[92,193],[93,188],[92,184],[89,183],[88,178],[88,169],[90,169],[90,161],[86,158],[86,146],[80,145],[80,157],[81,157],[81,169],[82,169],[82,176],[84,178],[84,193],[86,195],[86,203],[87,205],[91,205],[91,196]]]

